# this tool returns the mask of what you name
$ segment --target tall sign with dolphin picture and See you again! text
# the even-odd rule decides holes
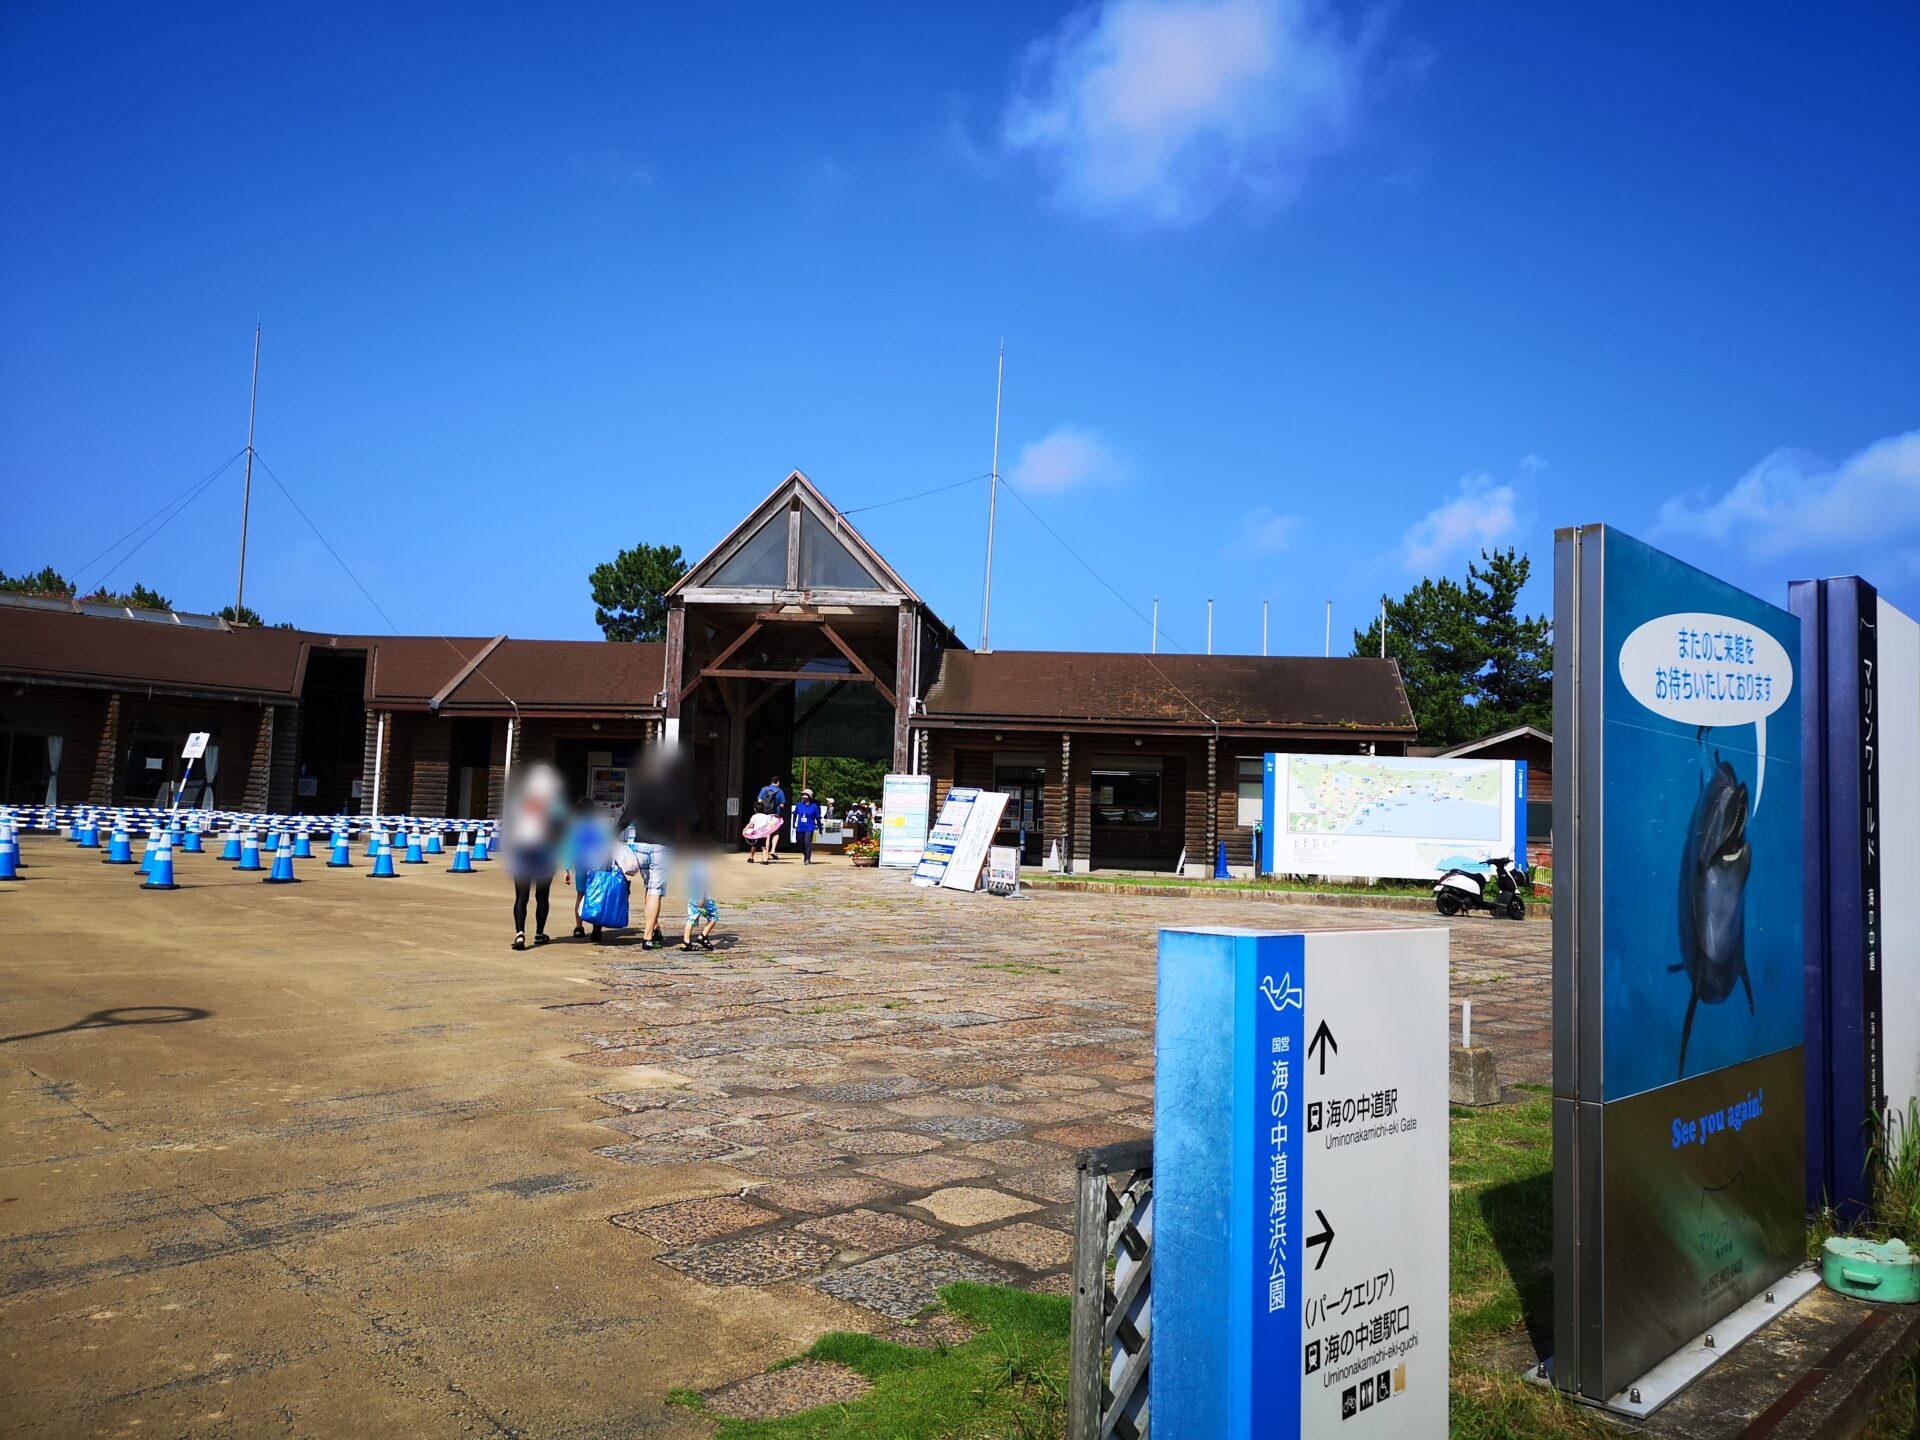
[[[1555,1382],[1599,1402],[1805,1254],[1799,622],[1555,536]]]

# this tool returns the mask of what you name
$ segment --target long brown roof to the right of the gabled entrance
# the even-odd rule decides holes
[[[935,720],[1413,733],[1392,660],[1298,655],[947,651],[925,712]]]

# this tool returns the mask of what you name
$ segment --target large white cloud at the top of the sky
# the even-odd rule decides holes
[[[1031,46],[1002,140],[1091,213],[1271,205],[1348,136],[1363,52],[1321,0],[1102,0]]]

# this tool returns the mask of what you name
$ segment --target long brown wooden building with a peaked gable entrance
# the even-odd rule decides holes
[[[1390,660],[970,651],[789,474],[668,595],[664,643],[326,636],[0,597],[0,801],[497,814],[515,766],[616,803],[645,745],[691,747],[735,835],[795,755],[1008,793],[1029,862],[1252,864],[1267,751],[1404,755]],[[791,785],[789,785],[791,789]]]

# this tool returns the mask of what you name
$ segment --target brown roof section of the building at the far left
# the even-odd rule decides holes
[[[0,674],[294,699],[309,639],[298,630],[202,630],[10,605],[0,607]]]

